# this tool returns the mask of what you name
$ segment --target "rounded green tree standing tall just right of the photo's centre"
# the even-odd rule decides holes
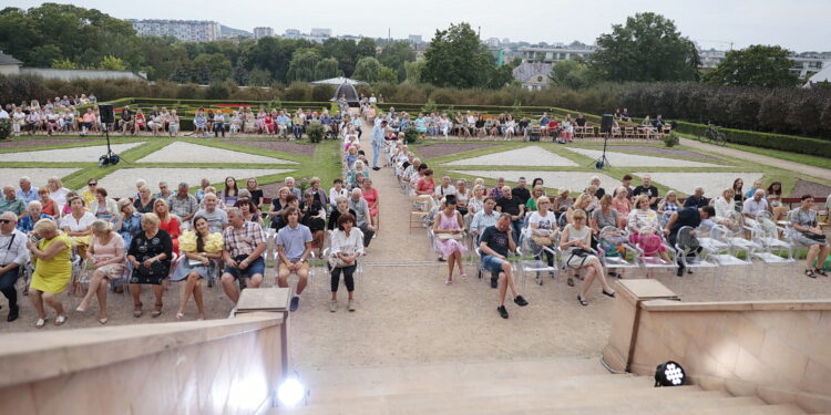
[[[424,60],[421,79],[438,86],[483,86],[493,65],[488,48],[468,23],[437,30]]]

